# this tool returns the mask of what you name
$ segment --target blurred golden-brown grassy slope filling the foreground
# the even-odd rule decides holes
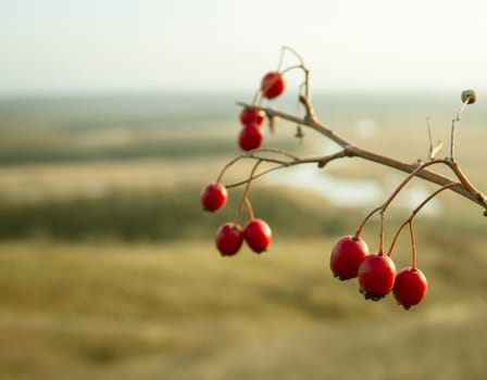
[[[422,240],[430,290],[408,312],[334,279],[329,239],[233,258],[208,240],[2,243],[0,379],[483,379],[482,239]]]

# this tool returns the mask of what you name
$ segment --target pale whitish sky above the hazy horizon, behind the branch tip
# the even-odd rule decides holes
[[[487,88],[480,0],[0,0],[0,94],[253,90],[283,45],[314,90]]]

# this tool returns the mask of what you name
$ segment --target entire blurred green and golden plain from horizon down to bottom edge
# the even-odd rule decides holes
[[[428,115],[448,145],[458,98],[323,94],[315,109],[354,143],[412,162],[427,154]],[[355,281],[327,268],[333,241],[379,200],[338,204],[259,180],[250,197],[273,227],[271,250],[217,255],[213,233],[235,217],[241,190],[217,214],[200,210],[199,192],[239,154],[236,100],[245,98],[0,100],[0,379],[484,379],[485,218],[471,202],[444,193],[436,214],[417,218],[430,291],[409,312],[391,297],[365,302]],[[469,107],[457,148],[484,191],[486,119],[482,102]],[[334,149],[294,132],[280,124],[266,144]],[[225,182],[249,170],[235,165]],[[325,173],[359,188],[372,178],[382,195],[402,178],[357,160]],[[409,212],[391,207],[386,237]],[[365,230],[372,250],[377,228],[373,219]],[[404,235],[398,267],[410,250]]]

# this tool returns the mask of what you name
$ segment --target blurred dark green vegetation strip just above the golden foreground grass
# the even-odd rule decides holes
[[[221,224],[235,219],[241,191],[232,192],[228,204],[214,214],[202,211],[200,191],[201,188],[195,187],[114,191],[97,198],[41,202],[2,201],[0,239],[201,239],[213,236]],[[258,216],[265,218],[275,233],[286,237],[336,235],[361,216],[359,211],[344,215],[316,195],[316,203],[311,205],[299,200],[303,197],[299,191],[290,195],[282,189],[263,188],[255,189],[254,193],[252,204]]]

